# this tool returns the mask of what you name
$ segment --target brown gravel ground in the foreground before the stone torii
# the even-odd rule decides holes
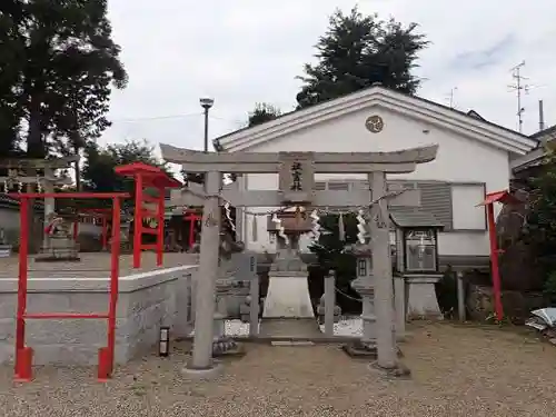
[[[180,374],[185,345],[149,356],[99,384],[95,369],[36,369],[36,380],[0,376],[6,417],[140,416],[554,416],[556,348],[530,336],[476,327],[417,325],[403,345],[407,380],[389,380],[336,346],[247,345],[211,383]]]

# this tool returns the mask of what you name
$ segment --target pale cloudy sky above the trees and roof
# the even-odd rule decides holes
[[[328,16],[348,0],[111,0],[115,40],[129,86],[112,98],[112,128],[102,142],[145,138],[151,143],[202,147],[199,98],[215,99],[210,137],[245,125],[256,102],[295,107],[296,76],[311,61]],[[524,96],[525,129],[538,129],[538,100],[556,123],[556,1],[359,0],[365,13],[417,22],[431,44],[416,73],[419,96],[475,109],[517,128],[512,67],[525,60],[533,88]],[[549,77],[553,76],[553,77]]]

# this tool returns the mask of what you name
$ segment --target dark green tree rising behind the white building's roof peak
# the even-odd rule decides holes
[[[306,63],[298,108],[358,91],[380,82],[406,93],[415,93],[419,79],[411,75],[418,53],[427,47],[417,24],[407,27],[377,14],[364,16],[357,7],[349,14],[337,10],[316,48],[317,64]]]

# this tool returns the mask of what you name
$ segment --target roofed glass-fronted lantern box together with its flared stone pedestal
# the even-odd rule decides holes
[[[441,278],[438,231],[444,225],[420,209],[391,210],[396,226],[396,275],[403,278],[408,318],[443,318],[435,284]]]

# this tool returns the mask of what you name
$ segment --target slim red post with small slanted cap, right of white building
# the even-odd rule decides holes
[[[498,244],[496,239],[496,221],[494,218],[494,203],[500,202],[502,205],[512,205],[520,202],[515,196],[509,191],[495,191],[488,192],[485,200],[477,205],[477,207],[485,206],[487,211],[488,221],[488,238],[490,240],[490,264],[493,272],[493,292],[494,292],[494,306],[496,312],[496,319],[502,321],[504,317],[504,308],[502,305],[502,284],[500,284],[500,269],[498,266],[498,255],[500,250],[498,249]]]

